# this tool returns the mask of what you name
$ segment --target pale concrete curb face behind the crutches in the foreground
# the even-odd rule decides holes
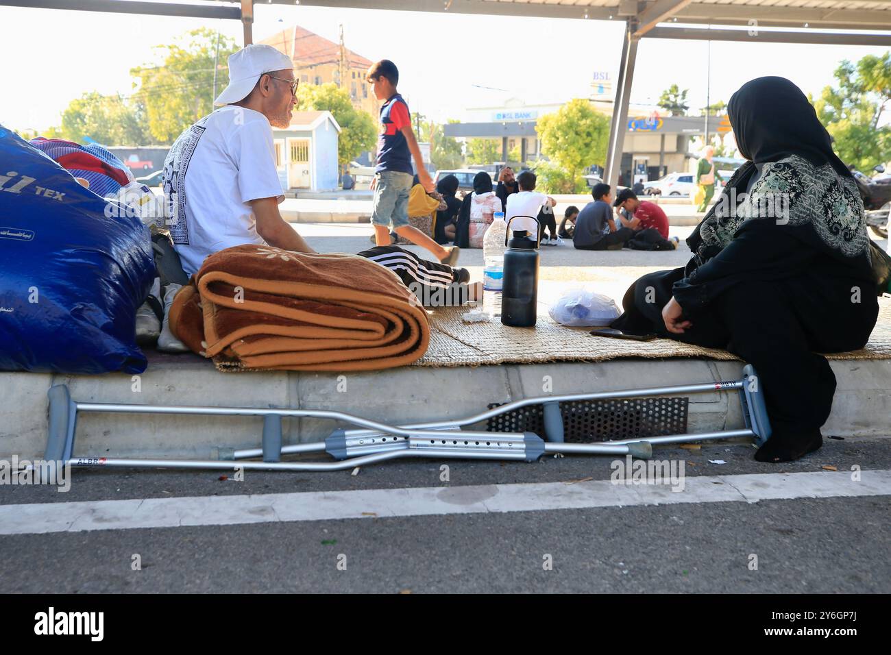
[[[833,361],[838,389],[825,436],[891,435],[891,360]],[[523,397],[634,389],[740,379],[740,362],[696,359],[620,359],[596,364],[509,364],[426,368],[406,366],[372,373],[217,373],[184,356],[152,362],[140,376],[0,373],[8,389],[0,405],[0,458],[42,456],[47,432],[46,392],[69,385],[79,402],[141,405],[216,405],[337,409],[391,423],[457,419],[488,403]],[[550,380],[548,379],[550,378]],[[138,390],[136,390],[138,389]],[[741,427],[736,396],[691,396],[691,431]],[[285,443],[319,441],[335,427],[318,419],[286,419]],[[478,426],[483,428],[483,426]],[[262,421],[255,417],[204,417],[84,413],[75,454],[208,458],[218,446],[258,447]]]

